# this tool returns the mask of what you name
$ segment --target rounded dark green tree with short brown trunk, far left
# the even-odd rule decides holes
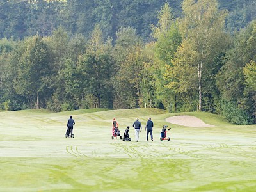
[[[31,99],[39,107],[40,97],[47,95],[51,87],[51,53],[49,47],[40,36],[28,38],[24,42],[25,49],[19,56],[17,68],[17,79],[14,81],[14,88],[17,93]],[[23,49],[23,48],[22,48]],[[32,104],[34,106],[35,104]]]

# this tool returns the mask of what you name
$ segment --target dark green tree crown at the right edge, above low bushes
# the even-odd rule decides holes
[[[255,51],[253,51],[256,44],[255,34],[255,22],[252,22],[246,29],[237,33],[234,38],[234,47],[227,52],[226,61],[218,72],[216,81],[221,97],[225,100],[241,100],[244,96],[248,96],[244,95],[244,90],[247,89],[246,92],[249,92],[252,89],[250,79],[253,80],[251,78],[253,76],[249,74],[253,71],[253,62],[256,61]],[[246,66],[246,63],[250,64]],[[244,83],[244,77],[247,84]],[[252,101],[254,100],[253,94],[249,97]]]

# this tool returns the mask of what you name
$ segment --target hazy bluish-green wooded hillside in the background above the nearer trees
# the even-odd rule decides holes
[[[136,29],[143,41],[154,40],[150,24],[157,23],[157,12],[164,3],[172,7],[173,16],[182,16],[182,0],[3,0],[0,2],[0,38],[23,39],[38,33],[51,36],[63,26],[68,36],[81,33],[89,38],[95,24],[104,39],[115,40],[122,26]],[[228,10],[227,31],[244,28],[256,18],[255,0],[219,0],[220,10]]]

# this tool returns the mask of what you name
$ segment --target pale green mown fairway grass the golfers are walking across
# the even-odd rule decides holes
[[[65,138],[69,115],[75,138]],[[215,127],[165,122],[193,115]],[[154,142],[111,139],[115,116],[123,134],[135,118],[154,121]],[[171,141],[160,141],[161,128]],[[255,125],[237,126],[209,113],[158,109],[0,112],[0,191],[255,191]]]

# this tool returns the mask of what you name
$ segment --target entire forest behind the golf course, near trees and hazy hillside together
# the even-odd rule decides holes
[[[0,2],[0,109],[161,108],[255,124],[256,1]]]

